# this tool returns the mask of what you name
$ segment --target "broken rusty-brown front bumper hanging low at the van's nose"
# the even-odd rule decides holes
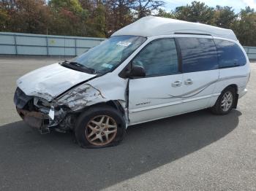
[[[49,133],[49,117],[46,114],[40,112],[29,112],[25,109],[17,109],[20,117],[32,128],[37,128],[40,133]]]

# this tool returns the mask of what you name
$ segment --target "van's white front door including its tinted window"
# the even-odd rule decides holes
[[[157,39],[141,50],[132,65],[143,66],[146,77],[129,79],[130,124],[181,112],[183,75],[174,39]]]

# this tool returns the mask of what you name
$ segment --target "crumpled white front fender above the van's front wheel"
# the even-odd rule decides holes
[[[118,101],[121,106],[125,107],[127,80],[121,78],[116,80],[109,75],[105,74],[102,77],[78,85],[64,93],[64,95],[53,99],[53,102],[59,106],[67,106],[73,112],[86,106],[108,101]]]

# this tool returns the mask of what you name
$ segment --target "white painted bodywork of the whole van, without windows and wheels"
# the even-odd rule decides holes
[[[152,25],[150,25],[151,22],[153,22]],[[138,23],[142,25],[138,26]],[[51,101],[50,104],[54,104],[54,106],[55,104],[66,105],[72,111],[102,102],[118,101],[126,112],[127,126],[214,106],[218,96],[228,85],[237,85],[239,98],[246,93],[246,84],[250,72],[249,60],[243,48],[236,40],[236,36],[233,36],[232,31],[211,28],[211,26],[201,24],[197,25],[195,23],[188,24],[187,22],[184,23],[177,20],[162,20],[162,18],[158,17],[146,17],[145,23],[143,23],[143,19],[138,23],[135,22],[134,26],[128,26],[128,28],[121,29],[113,34],[113,36],[118,34],[139,35],[145,32],[144,35],[148,35],[148,38],[146,42],[138,47],[129,58],[112,72],[78,85],[78,83],[95,77],[95,75],[67,69],[55,63],[20,77],[18,79],[18,87],[26,95],[45,98]],[[136,29],[137,31],[135,30],[135,26],[138,27]],[[157,28],[157,26],[161,27]],[[221,37],[206,35],[170,34],[168,31],[170,26],[173,26],[177,30],[191,26],[197,32],[198,28],[202,30],[204,28],[204,30],[207,29],[208,31],[212,29],[211,34],[227,36],[229,37],[227,40],[231,39],[230,41],[235,42],[241,47],[241,50],[243,50],[246,56],[247,63],[245,66],[229,69],[129,79],[129,103],[127,103],[126,90],[128,79],[118,77],[118,74],[148,43],[154,39],[175,37],[223,39]],[[198,26],[198,28],[195,26]],[[152,30],[147,31],[146,29],[148,28]],[[143,31],[144,29],[146,31]],[[192,31],[190,30],[189,32]],[[186,85],[185,82],[187,79],[192,79],[191,85]],[[173,87],[172,83],[176,81],[180,81],[181,85]],[[74,85],[78,86],[56,98],[56,96]],[[129,108],[127,108],[127,104],[129,104]],[[53,117],[52,113],[50,116]]]

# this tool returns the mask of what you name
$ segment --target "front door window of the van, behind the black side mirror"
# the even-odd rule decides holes
[[[178,55],[174,39],[150,42],[136,55],[132,64],[143,66],[146,77],[178,73]]]

